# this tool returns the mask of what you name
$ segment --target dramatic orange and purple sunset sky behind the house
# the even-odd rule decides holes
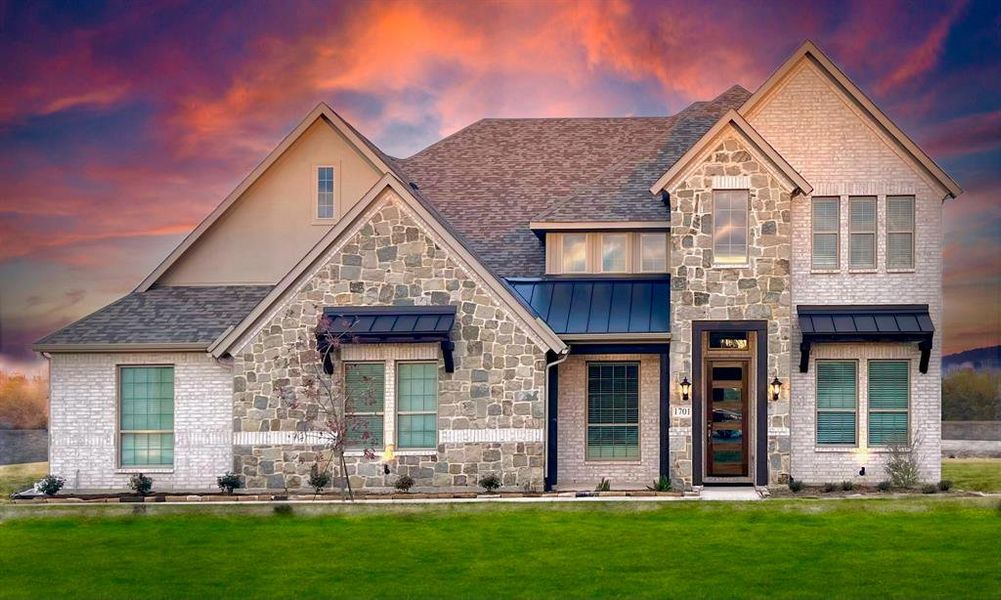
[[[0,0],[0,368],[38,369],[33,341],[130,291],[320,100],[405,156],[486,116],[754,90],[806,38],[965,188],[944,351],[1001,344],[998,7]]]

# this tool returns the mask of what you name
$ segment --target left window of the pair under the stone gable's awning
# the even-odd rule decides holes
[[[379,449],[385,444],[385,365],[344,364],[344,448]]]

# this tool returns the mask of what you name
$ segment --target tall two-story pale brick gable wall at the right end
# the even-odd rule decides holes
[[[814,196],[841,197],[841,265],[814,271],[811,267],[811,199],[797,198],[793,204],[793,305],[896,305],[927,304],[935,324],[928,373],[912,369],[911,434],[922,477],[941,477],[942,399],[942,204],[945,190],[931,182],[918,167],[894,150],[895,142],[874,126],[810,61],[803,61],[789,74],[772,97],[745,115],[810,183]],[[837,132],[833,135],[831,132]],[[913,269],[886,268],[886,196],[915,196],[915,265]],[[851,269],[849,249],[849,196],[876,196],[876,268]],[[954,201],[954,200],[948,200]],[[962,201],[962,200],[960,200]],[[878,451],[818,448],[814,393],[815,372],[800,374],[799,345],[802,335],[793,324],[793,475],[804,480],[848,478],[868,460],[870,485],[886,477],[883,456]],[[884,345],[815,345],[812,358],[861,359],[860,410],[864,402],[861,372],[865,359],[893,355],[913,357],[916,345],[896,349]],[[860,413],[861,414],[861,413]],[[868,457],[868,458],[866,458]]]

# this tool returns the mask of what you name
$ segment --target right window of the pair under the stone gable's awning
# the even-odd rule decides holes
[[[437,446],[437,365],[397,367],[396,431],[399,448]]]

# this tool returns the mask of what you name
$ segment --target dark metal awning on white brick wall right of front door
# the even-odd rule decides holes
[[[815,343],[893,342],[918,343],[921,373],[928,373],[935,326],[928,305],[799,306],[800,373],[810,368]]]

